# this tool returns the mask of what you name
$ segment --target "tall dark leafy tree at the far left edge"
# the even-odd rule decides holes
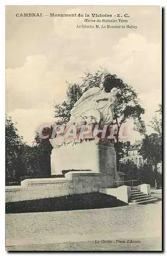
[[[16,181],[23,173],[24,165],[22,152],[25,143],[18,135],[18,131],[12,122],[12,118],[5,118],[5,147],[6,147],[6,184]]]

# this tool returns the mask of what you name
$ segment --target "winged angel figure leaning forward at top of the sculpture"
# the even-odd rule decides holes
[[[110,93],[98,87],[89,89],[74,104],[68,123],[79,124],[84,119],[87,124],[111,124],[117,103],[116,95],[117,88],[113,88]]]

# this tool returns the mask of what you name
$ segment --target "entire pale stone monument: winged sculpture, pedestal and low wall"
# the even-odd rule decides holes
[[[127,201],[125,191],[113,190],[123,184],[111,133],[116,103],[116,88],[110,93],[96,87],[85,92],[74,104],[69,122],[55,125],[57,135],[50,139],[51,175],[62,175],[64,170],[65,177],[25,179],[20,186],[7,186],[6,201],[95,192],[121,194],[121,198],[123,193]]]

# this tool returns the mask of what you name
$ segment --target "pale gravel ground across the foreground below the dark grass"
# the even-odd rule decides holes
[[[161,237],[161,202],[6,215],[6,246]],[[155,242],[153,243],[155,244]],[[26,249],[27,250],[27,249]]]

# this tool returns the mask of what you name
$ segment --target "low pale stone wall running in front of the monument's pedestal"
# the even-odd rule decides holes
[[[65,178],[26,179],[21,186],[6,186],[6,202],[91,193],[114,186],[114,177],[110,175],[69,172]]]

